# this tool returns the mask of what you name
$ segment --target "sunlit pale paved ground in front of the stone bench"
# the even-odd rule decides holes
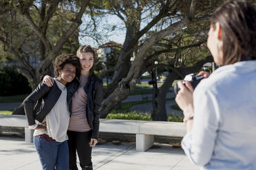
[[[180,147],[155,143],[145,152],[138,152],[135,143],[100,141],[92,149],[92,162],[97,170],[199,170],[192,165]],[[78,163],[79,165],[79,163]],[[0,169],[41,169],[39,156],[32,143],[24,138],[0,136]],[[81,169],[79,167],[79,169]]]

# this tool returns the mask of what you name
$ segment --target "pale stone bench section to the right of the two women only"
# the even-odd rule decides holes
[[[154,135],[183,137],[186,129],[180,122],[100,119],[100,132],[136,134],[136,150],[146,151]]]

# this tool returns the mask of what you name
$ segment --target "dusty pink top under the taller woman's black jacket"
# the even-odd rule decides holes
[[[78,88],[72,99],[72,114],[68,130],[75,132],[88,132],[91,130],[86,117],[87,95],[83,89],[88,77],[81,75],[81,86]]]

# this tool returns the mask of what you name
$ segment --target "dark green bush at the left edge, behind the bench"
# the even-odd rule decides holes
[[[0,69],[0,96],[23,95],[31,92],[28,80],[14,68]]]

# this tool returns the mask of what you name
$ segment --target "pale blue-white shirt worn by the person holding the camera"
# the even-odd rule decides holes
[[[182,140],[202,169],[256,169],[256,60],[221,66],[193,93],[193,130]]]

